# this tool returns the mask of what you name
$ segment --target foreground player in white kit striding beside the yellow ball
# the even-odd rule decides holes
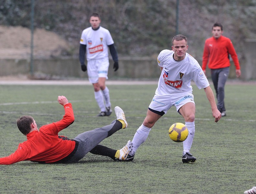
[[[176,35],[173,37],[172,45],[173,50],[162,50],[158,56],[158,65],[162,71],[158,88],[149,105],[143,124],[133,137],[133,148],[126,161],[133,160],[136,150],[146,141],[157,120],[167,113],[172,106],[175,106],[177,112],[184,117],[185,125],[189,131],[187,139],[183,142],[182,162],[195,162],[196,158],[190,154],[195,135],[195,102],[191,80],[195,81],[199,89],[204,88],[215,122],[221,118],[214,94],[202,68],[191,55],[186,53],[188,49],[187,38],[183,35]]]

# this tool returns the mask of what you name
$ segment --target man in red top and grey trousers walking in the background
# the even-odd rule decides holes
[[[229,74],[229,55],[231,55],[236,66],[237,77],[240,77],[241,70],[237,53],[231,40],[222,36],[222,33],[222,25],[215,23],[212,27],[213,36],[205,41],[202,69],[206,74],[206,65],[209,62],[208,67],[211,69],[212,81],[217,95],[217,107],[221,112],[221,116],[226,116],[224,86]]]

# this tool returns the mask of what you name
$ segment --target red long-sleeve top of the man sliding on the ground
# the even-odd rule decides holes
[[[65,104],[64,110],[63,119],[42,126],[39,131],[30,132],[28,140],[19,144],[13,154],[0,158],[0,164],[8,165],[24,160],[52,163],[68,156],[75,148],[75,141],[58,136],[58,133],[74,122],[72,104]]]

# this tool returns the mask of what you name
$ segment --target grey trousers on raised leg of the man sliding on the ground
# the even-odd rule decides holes
[[[122,128],[122,124],[117,120],[112,121],[111,124],[97,128],[91,131],[86,131],[77,135],[74,140],[79,142],[76,153],[68,162],[78,162],[102,140],[117,132]]]

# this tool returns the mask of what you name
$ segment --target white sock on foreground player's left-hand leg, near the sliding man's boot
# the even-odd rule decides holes
[[[132,151],[129,155],[134,155],[139,146],[144,143],[149,135],[151,128],[144,126],[143,124],[137,129],[133,139],[132,139]]]

